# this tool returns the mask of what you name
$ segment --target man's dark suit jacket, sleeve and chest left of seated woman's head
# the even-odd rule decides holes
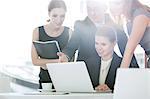
[[[74,33],[64,50],[70,58],[75,50],[79,50],[78,61],[86,60],[96,54],[95,50],[95,32],[96,27],[87,17],[84,21],[77,21],[74,26]]]

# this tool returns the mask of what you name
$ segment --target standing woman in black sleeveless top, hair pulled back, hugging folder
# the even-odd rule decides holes
[[[62,0],[51,0],[48,5],[48,15],[49,23],[43,26],[39,26],[33,31],[33,41],[51,41],[56,40],[60,45],[60,49],[67,45],[69,40],[69,28],[62,26],[65,14],[66,14],[66,5]],[[39,74],[39,88],[42,88],[41,83],[51,83],[48,70],[46,68],[46,63],[58,63],[59,59],[47,59],[45,57],[40,57],[32,44],[32,63],[36,66],[40,66]]]

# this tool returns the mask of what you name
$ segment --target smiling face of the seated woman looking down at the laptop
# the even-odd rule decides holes
[[[109,59],[112,57],[115,42],[110,42],[107,37],[95,36],[95,48],[98,55],[102,59]]]

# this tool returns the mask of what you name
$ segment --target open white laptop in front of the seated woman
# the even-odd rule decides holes
[[[56,92],[96,92],[83,61],[46,65]]]

